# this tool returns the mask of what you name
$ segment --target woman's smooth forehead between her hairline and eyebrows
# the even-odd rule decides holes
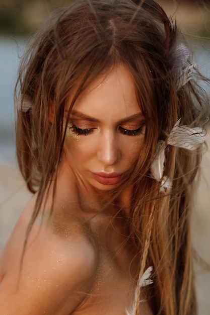
[[[66,110],[71,101],[72,95],[67,100]],[[97,119],[103,119],[108,112],[112,118],[116,116],[118,120],[141,112],[133,77],[127,67],[120,64],[98,76],[77,98],[74,110]]]

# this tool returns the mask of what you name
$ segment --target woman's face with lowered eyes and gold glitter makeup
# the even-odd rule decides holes
[[[71,104],[69,97],[65,117]],[[117,187],[142,148],[145,117],[124,65],[100,76],[77,99],[69,117],[63,166],[98,190]]]

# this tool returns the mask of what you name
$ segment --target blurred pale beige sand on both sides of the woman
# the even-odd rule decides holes
[[[210,132],[209,132],[210,133]],[[207,142],[210,147],[210,134]],[[192,215],[192,238],[197,252],[210,264],[210,150],[204,154],[198,196]],[[6,243],[21,211],[31,198],[16,167],[0,163],[0,250]],[[210,314],[210,271],[195,266],[198,314]]]

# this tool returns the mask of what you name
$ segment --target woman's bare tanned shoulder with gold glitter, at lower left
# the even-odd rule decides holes
[[[96,250],[75,220],[66,228],[35,223],[21,266],[29,218],[25,211],[1,256],[0,313],[67,315],[92,286]]]

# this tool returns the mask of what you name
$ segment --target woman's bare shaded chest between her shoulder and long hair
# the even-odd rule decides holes
[[[93,284],[74,315],[127,315],[136,286],[133,272],[133,253],[126,242],[123,229],[118,226],[92,229],[98,252],[98,266]],[[147,302],[142,302],[148,309]],[[144,315],[144,311],[141,312]],[[151,314],[145,312],[145,314]]]

